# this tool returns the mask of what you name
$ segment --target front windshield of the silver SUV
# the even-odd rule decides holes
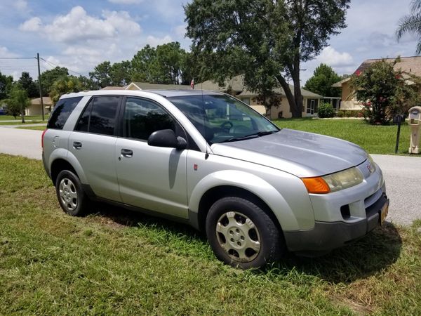
[[[279,131],[248,105],[227,95],[175,96],[170,100],[208,143],[224,143]]]

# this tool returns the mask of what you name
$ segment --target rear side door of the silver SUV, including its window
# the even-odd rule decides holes
[[[73,154],[96,196],[121,202],[116,176],[116,116],[120,96],[93,97],[69,137]]]

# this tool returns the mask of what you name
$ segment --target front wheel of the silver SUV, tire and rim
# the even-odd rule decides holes
[[[224,197],[210,207],[206,235],[220,261],[243,269],[262,268],[278,260],[286,249],[270,216],[241,197]]]

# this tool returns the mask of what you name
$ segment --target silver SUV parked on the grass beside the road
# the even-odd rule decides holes
[[[66,213],[101,200],[189,223],[241,268],[324,254],[381,225],[389,205],[361,147],[279,129],[211,91],[62,96],[43,161]]]

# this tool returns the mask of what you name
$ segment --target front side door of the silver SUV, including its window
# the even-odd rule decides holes
[[[154,131],[181,126],[158,103],[146,98],[123,100],[123,137],[116,140],[116,170],[125,204],[188,218],[187,150],[152,147],[147,138]]]

